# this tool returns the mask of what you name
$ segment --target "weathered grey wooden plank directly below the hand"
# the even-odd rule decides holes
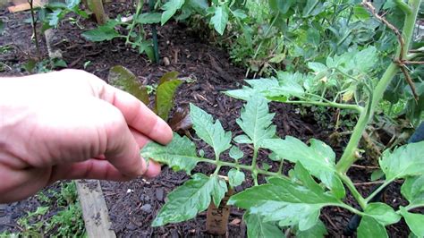
[[[80,180],[76,183],[82,217],[89,237],[115,238],[100,182]]]

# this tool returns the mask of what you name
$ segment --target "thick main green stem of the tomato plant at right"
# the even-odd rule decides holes
[[[410,5],[412,9],[411,14],[407,14],[403,26],[403,35],[405,38],[405,50],[403,56],[406,56],[407,49],[410,46],[413,28],[415,26],[415,20],[417,18],[417,13],[420,9],[420,0],[410,0]],[[399,55],[401,51],[401,46],[398,47],[397,54]],[[355,151],[358,148],[360,138],[362,137],[362,133],[365,131],[367,124],[372,119],[374,115],[374,111],[378,106],[378,102],[383,98],[383,95],[386,91],[387,86],[390,81],[394,78],[396,72],[398,72],[399,66],[397,64],[390,64],[386,72],[381,77],[380,81],[377,83],[377,87],[373,91],[372,98],[369,102],[369,110],[364,111],[360,114],[360,118],[358,119],[358,123],[353,130],[351,140],[349,140],[346,149],[343,152],[343,156],[340,158],[339,162],[336,165],[337,171],[345,174],[350,166],[357,160],[354,156]]]

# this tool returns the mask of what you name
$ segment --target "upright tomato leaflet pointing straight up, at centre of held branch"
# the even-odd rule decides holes
[[[270,114],[265,98],[253,97],[242,108],[237,124],[242,128],[253,147],[259,149],[263,140],[271,139],[276,135],[276,126],[271,125],[276,114]]]

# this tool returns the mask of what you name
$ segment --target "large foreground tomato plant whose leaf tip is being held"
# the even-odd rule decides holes
[[[369,6],[368,2],[363,4]],[[274,78],[247,81],[249,86],[226,92],[233,98],[247,101],[236,121],[244,134],[234,138],[232,132],[225,132],[219,121],[214,122],[211,115],[191,105],[193,129],[199,139],[213,149],[213,157],[205,157],[203,150],[198,152],[191,140],[177,134],[169,145],[151,142],[140,153],[187,174],[191,174],[198,163],[212,164],[216,169],[210,175],[191,174],[190,180],[168,195],[152,225],[191,219],[207,209],[211,202],[217,207],[228,190],[218,174],[222,173],[222,167],[230,167],[226,174],[230,187],[243,183],[245,172],[253,178],[252,187],[234,194],[228,201],[228,204],[246,210],[243,218],[249,237],[282,237],[284,234],[322,237],[326,234],[326,227],[319,215],[325,207],[344,208],[360,216],[358,237],[388,237],[385,226],[399,222],[402,217],[410,227],[411,235],[424,236],[424,215],[414,213],[415,208],[424,207],[424,141],[386,149],[378,159],[385,175],[382,184],[366,198],[346,174],[360,158],[360,139],[384,92],[396,73],[403,71],[404,65],[399,62],[412,60],[422,53],[422,49],[408,53],[420,1],[411,0],[402,7],[407,7],[404,9],[402,40],[394,62],[388,65],[379,80],[370,76],[378,59],[377,49],[366,47],[330,55],[326,64],[308,64],[314,73],[280,72]],[[373,8],[369,8],[372,12]],[[329,91],[334,93],[327,93]],[[334,150],[323,141],[311,139],[306,144],[291,136],[278,138],[276,126],[272,124],[274,114],[269,113],[267,106],[269,101],[349,110],[358,115],[358,122],[342,156],[336,159]],[[243,155],[239,144],[250,144],[251,155]],[[272,151],[269,159],[278,161],[280,166],[272,170],[259,166],[258,155],[263,149]],[[233,158],[231,162],[222,160],[227,150],[229,157]],[[242,158],[246,157],[251,161],[248,165],[242,163]],[[285,162],[294,164],[288,174],[283,173]],[[266,182],[259,184],[259,176],[265,176]],[[399,179],[404,180],[401,193],[408,205],[395,210],[386,203],[373,201],[378,192]],[[359,208],[344,201],[345,188],[358,202]]]

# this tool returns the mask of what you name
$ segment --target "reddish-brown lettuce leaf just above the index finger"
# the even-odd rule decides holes
[[[148,105],[148,89],[144,87],[130,70],[116,65],[109,70],[107,76],[109,84],[130,93],[135,98],[138,98],[144,104]]]

